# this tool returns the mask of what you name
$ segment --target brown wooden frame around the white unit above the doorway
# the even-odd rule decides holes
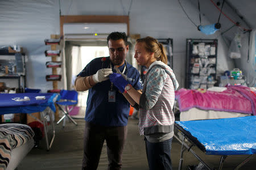
[[[126,23],[129,35],[129,16],[127,15],[61,15],[60,36],[63,36],[64,23]]]

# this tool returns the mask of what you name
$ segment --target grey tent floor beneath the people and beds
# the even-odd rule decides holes
[[[62,125],[56,125],[56,137],[51,150],[46,151],[46,143],[42,141],[38,148],[33,148],[22,160],[18,170],[81,169],[84,120],[76,119],[76,121],[78,126],[71,122],[67,122],[65,128],[62,128]],[[171,151],[173,169],[178,168],[180,148],[181,145],[174,139]],[[205,155],[195,147],[192,148],[211,167],[218,167],[220,156]],[[247,155],[228,156],[223,169],[234,169],[246,157]],[[199,161],[190,152],[184,152],[183,169],[187,169],[188,165],[198,163]],[[106,155],[106,145],[104,145],[98,169],[107,169],[107,167],[108,157]],[[143,137],[139,136],[138,133],[138,120],[129,119],[122,169],[148,169]],[[243,165],[241,169],[256,169],[256,156]]]

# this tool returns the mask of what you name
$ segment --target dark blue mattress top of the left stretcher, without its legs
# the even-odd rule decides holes
[[[16,97],[24,99],[24,96],[30,98],[28,101],[15,101]],[[45,96],[43,100],[36,100],[36,96]],[[55,101],[59,100],[58,94],[38,94],[38,93],[23,93],[23,94],[0,94],[0,114],[8,113],[34,113],[43,112],[47,107],[50,107],[53,112],[56,111]]]

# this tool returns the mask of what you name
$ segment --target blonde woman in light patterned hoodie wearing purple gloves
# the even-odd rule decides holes
[[[153,37],[138,39],[137,63],[147,67],[142,94],[131,87],[121,74],[111,74],[110,81],[134,107],[139,108],[139,133],[144,135],[150,169],[172,169],[171,143],[174,136],[175,90],[179,84],[167,65],[163,45]]]

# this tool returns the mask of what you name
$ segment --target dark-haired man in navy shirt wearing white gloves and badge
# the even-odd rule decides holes
[[[108,169],[122,167],[130,104],[109,81],[109,75],[122,73],[135,89],[141,89],[138,70],[125,61],[129,50],[126,34],[112,32],[107,40],[110,57],[93,59],[75,80],[77,91],[89,90],[82,169],[97,169],[105,140],[108,148]]]

